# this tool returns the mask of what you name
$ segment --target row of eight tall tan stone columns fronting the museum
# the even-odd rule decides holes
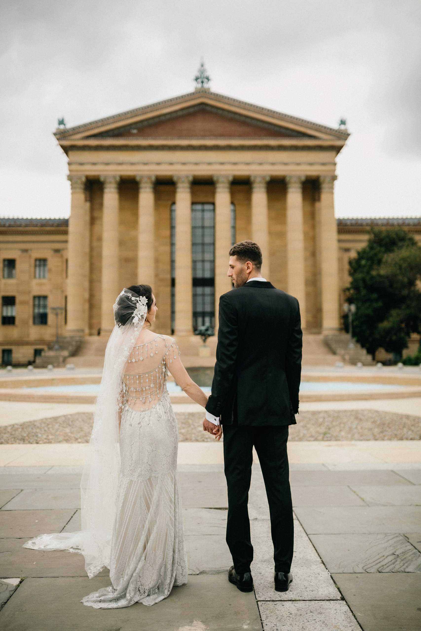
[[[193,175],[174,175],[176,204],[175,240],[175,335],[193,334],[191,186]],[[317,276],[320,279],[323,333],[338,330],[338,240],[333,203],[336,177],[321,175],[320,196],[316,199]],[[85,204],[83,175],[69,175],[71,217],[68,245],[68,333],[85,328],[86,258],[89,251],[88,209]],[[104,186],[102,223],[102,315],[101,332],[109,335],[114,326],[111,306],[121,288],[119,260],[119,175],[102,175]],[[155,176],[137,175],[138,198],[138,281],[155,285]],[[251,175],[251,239],[263,253],[262,276],[270,280],[270,252],[267,184],[270,175]],[[302,184],[305,175],[287,175],[287,291],[298,298],[305,329],[305,246]],[[230,237],[230,186],[232,175],[215,175],[215,324],[218,326],[218,301],[230,290],[227,254]],[[87,235],[87,236],[86,236]]]

